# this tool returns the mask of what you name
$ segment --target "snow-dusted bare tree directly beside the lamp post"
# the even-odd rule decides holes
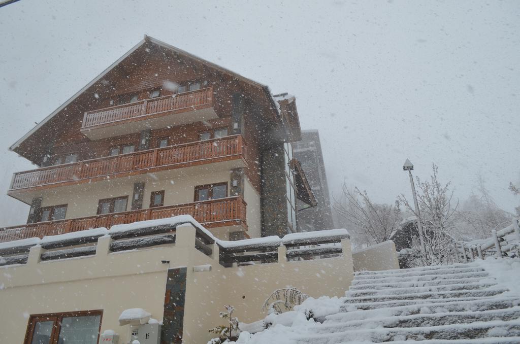
[[[453,260],[454,214],[459,205],[458,201],[453,201],[453,192],[449,190],[450,182],[441,184],[438,180],[438,167],[433,164],[432,169],[430,180],[421,181],[417,177],[420,214],[417,214],[413,202],[410,204],[405,195],[398,197],[398,201],[422,221],[425,247],[424,251],[420,247],[416,249],[423,265],[448,264]]]

